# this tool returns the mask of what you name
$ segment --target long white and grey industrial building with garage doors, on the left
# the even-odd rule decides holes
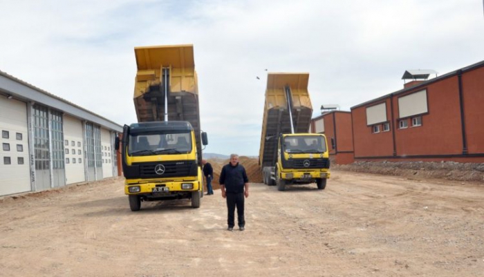
[[[0,71],[0,196],[120,175],[122,126]]]

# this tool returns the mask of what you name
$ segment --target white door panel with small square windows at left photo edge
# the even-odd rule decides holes
[[[8,131],[8,138],[2,137]],[[21,140],[17,140],[17,133]],[[3,150],[3,145],[10,151]],[[17,149],[18,147],[18,149]],[[4,158],[10,157],[10,164]],[[24,164],[19,164],[24,160]],[[28,158],[27,104],[0,97],[0,195],[30,191],[30,160]]]

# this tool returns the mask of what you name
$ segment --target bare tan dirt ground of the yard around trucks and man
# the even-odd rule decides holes
[[[220,191],[143,202],[123,179],[0,198],[0,276],[484,276],[484,185],[332,171],[250,184],[245,231]]]

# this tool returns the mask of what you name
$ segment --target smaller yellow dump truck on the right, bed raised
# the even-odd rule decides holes
[[[259,149],[263,182],[279,191],[288,184],[316,183],[330,178],[326,137],[308,133],[313,107],[308,73],[269,73]]]

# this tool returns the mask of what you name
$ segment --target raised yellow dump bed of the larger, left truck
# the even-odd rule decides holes
[[[198,162],[201,163],[201,127],[193,46],[136,47],[135,55],[138,72],[133,100],[138,122],[190,122],[195,131]]]

